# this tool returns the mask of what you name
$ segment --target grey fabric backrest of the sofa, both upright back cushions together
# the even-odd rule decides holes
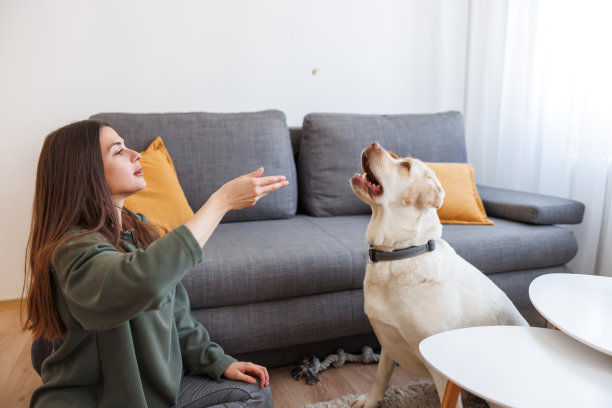
[[[265,168],[290,184],[252,208],[228,213],[223,222],[368,214],[350,187],[361,172],[361,151],[373,141],[399,156],[424,161],[467,160],[459,112],[409,115],[313,113],[302,128],[287,128],[277,110],[248,113],[100,113],[128,147],[143,151],[157,136],[174,161],[187,200],[197,211],[225,182]],[[296,163],[298,172],[296,173]],[[299,175],[299,177],[298,177]]]

